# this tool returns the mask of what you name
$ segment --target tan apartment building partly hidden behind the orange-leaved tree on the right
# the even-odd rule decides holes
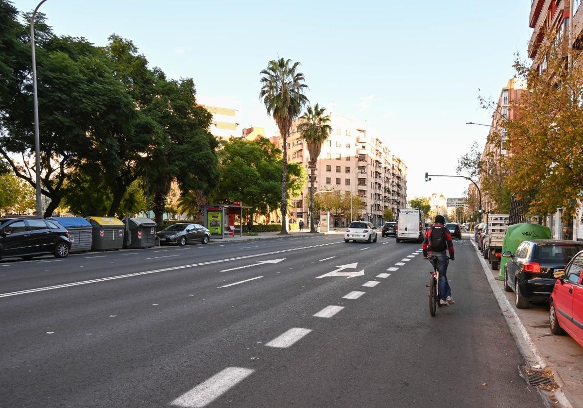
[[[505,87],[502,88],[500,92],[500,97],[498,97],[498,103],[496,106],[496,111],[492,115],[492,122],[490,125],[490,132],[484,146],[484,151],[482,153],[482,161],[486,163],[487,167],[499,166],[498,160],[502,156],[510,154],[504,148],[504,138],[506,136],[506,129],[504,128],[505,119],[515,119],[517,112],[514,110],[514,103],[517,103],[521,99],[522,92],[526,91],[526,83],[523,80],[516,78],[511,78]],[[496,146],[494,140],[491,136],[494,132],[498,132],[503,138],[503,144],[500,148]],[[478,184],[480,185],[480,190],[483,192],[482,196],[482,208],[485,212],[493,210],[496,204],[487,194],[487,192],[482,188],[483,179],[480,178]]]

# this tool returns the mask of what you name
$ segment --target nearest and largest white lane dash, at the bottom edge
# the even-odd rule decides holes
[[[202,408],[249,377],[255,370],[227,367],[171,402],[183,408]]]

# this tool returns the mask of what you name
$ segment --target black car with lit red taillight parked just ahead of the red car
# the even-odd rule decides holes
[[[567,240],[532,240],[518,245],[516,252],[504,252],[511,258],[504,265],[504,290],[514,290],[519,309],[529,303],[547,301],[553,291],[554,272],[583,250],[583,242]]]

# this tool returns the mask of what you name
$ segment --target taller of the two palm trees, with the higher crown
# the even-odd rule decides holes
[[[287,235],[287,136],[291,124],[308,102],[304,91],[304,74],[297,71],[299,62],[279,58],[269,61],[267,68],[261,71],[261,92],[267,112],[273,116],[283,137],[283,171],[282,171],[282,212],[281,235]]]

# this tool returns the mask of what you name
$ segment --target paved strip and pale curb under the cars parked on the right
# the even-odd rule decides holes
[[[475,248],[473,235],[470,240]],[[479,258],[484,272],[487,269],[492,274],[490,275],[492,279],[489,280],[493,286],[494,296],[497,298],[501,296],[510,304],[510,308],[502,309],[502,314],[505,316],[511,332],[515,333],[517,330],[524,329],[526,333],[525,343],[528,344],[521,344],[520,339],[517,339],[522,354],[530,354],[531,357],[538,355],[542,358],[540,361],[542,367],[534,368],[550,370],[554,374],[555,382],[559,386],[559,389],[554,392],[554,397],[561,405],[583,408],[583,347],[568,335],[555,336],[550,332],[548,304],[531,303],[528,309],[515,307],[514,292],[505,292],[503,282],[494,279],[494,276],[498,275],[498,271],[492,271],[487,261],[484,261],[481,256]],[[500,301],[498,303],[500,304]],[[512,315],[516,316],[516,319],[513,319]],[[531,353],[532,351],[534,353]]]

